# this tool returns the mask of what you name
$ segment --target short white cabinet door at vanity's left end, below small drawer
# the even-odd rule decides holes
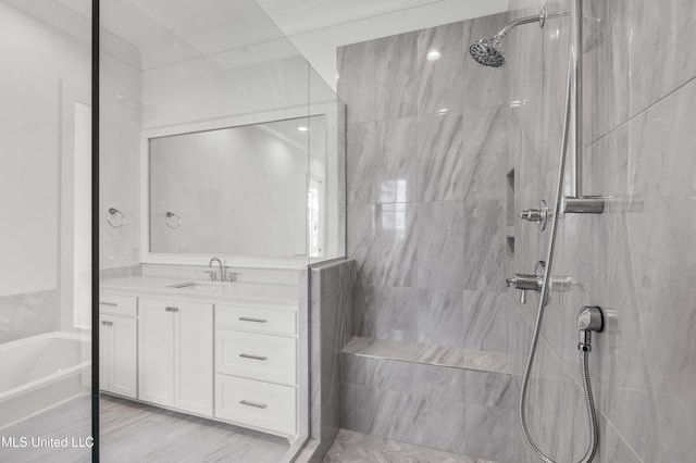
[[[121,396],[137,396],[137,321],[112,316],[110,390]]]

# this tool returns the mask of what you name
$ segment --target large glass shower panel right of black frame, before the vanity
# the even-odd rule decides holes
[[[289,461],[310,66],[253,0],[102,0],[100,30],[101,458]]]

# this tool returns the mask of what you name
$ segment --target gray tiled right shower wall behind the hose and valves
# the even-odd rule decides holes
[[[544,4],[514,0],[513,14]],[[633,196],[633,212],[560,218],[552,292],[530,396],[530,426],[557,461],[587,443],[576,314],[605,309],[594,336],[592,378],[600,412],[596,461],[689,462],[696,454],[696,3],[584,1],[586,195]],[[552,3],[549,9],[568,9]],[[568,18],[506,38],[510,167],[518,209],[552,200],[560,148]],[[485,36],[490,35],[489,30]],[[514,271],[544,258],[548,230],[515,223]],[[510,291],[512,300],[518,295]],[[536,297],[511,311],[510,353],[525,354]],[[515,462],[536,459],[515,433]]]

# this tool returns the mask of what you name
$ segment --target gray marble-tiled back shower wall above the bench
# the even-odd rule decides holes
[[[507,87],[467,59],[506,15],[343,47],[356,335],[505,351]],[[440,59],[427,60],[437,50]]]

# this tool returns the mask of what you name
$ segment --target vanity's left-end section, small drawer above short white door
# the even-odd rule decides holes
[[[102,293],[99,297],[99,388],[137,397],[136,298]]]

